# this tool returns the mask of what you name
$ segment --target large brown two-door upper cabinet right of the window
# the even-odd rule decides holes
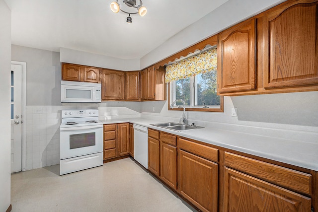
[[[218,94],[318,90],[318,0],[288,0],[218,34]]]

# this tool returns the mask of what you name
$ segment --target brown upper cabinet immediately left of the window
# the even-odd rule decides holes
[[[141,71],[141,100],[166,100],[165,69],[151,66]]]

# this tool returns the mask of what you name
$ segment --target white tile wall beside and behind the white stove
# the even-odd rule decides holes
[[[100,104],[63,104],[62,106],[26,106],[26,170],[60,163],[61,110],[98,109],[103,117],[138,116],[140,112],[126,108],[122,102]],[[140,102],[127,103],[139,108]],[[117,106],[118,105],[118,106]],[[122,106],[124,105],[124,107]],[[107,107],[107,108],[106,108]]]

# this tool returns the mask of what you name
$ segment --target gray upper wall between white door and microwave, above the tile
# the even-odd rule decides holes
[[[60,53],[12,45],[11,57],[26,62],[26,105],[61,105]]]

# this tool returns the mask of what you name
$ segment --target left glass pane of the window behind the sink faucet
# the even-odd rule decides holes
[[[190,77],[175,81],[175,99],[182,99],[190,106]],[[182,102],[176,102],[176,105],[183,106]]]

